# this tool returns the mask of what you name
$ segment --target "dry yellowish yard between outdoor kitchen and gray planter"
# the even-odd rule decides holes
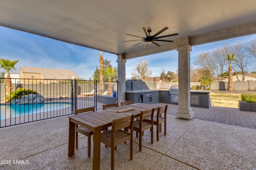
[[[241,100],[241,93],[210,93],[214,106],[238,108],[238,101]]]

